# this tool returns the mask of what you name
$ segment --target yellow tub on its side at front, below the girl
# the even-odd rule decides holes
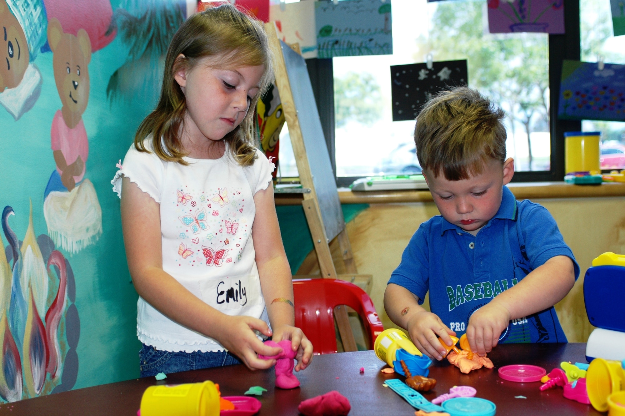
[[[219,392],[211,381],[151,386],[141,398],[141,416],[219,416]]]

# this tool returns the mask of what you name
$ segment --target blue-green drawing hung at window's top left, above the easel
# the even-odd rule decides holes
[[[392,54],[391,2],[316,1],[314,6],[319,58]]]

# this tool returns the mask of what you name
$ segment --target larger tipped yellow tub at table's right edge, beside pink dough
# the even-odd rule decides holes
[[[586,391],[588,398],[599,412],[607,412],[607,398],[612,393],[625,389],[625,373],[620,361],[595,358],[586,370]]]

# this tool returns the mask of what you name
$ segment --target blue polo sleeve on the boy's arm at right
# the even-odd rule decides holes
[[[544,265],[552,257],[567,256],[573,262],[575,280],[577,280],[579,265],[577,265],[571,248],[564,242],[564,238],[557,228],[556,220],[547,211],[547,208],[532,204],[531,207],[522,211],[519,210],[519,221],[521,221],[527,259],[532,270]]]

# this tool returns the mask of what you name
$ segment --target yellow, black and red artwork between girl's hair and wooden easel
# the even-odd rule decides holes
[[[276,85],[271,84],[256,104],[256,133],[261,138],[262,151],[276,165],[272,173],[274,179],[277,175],[279,139],[284,121],[280,95],[277,93]]]

